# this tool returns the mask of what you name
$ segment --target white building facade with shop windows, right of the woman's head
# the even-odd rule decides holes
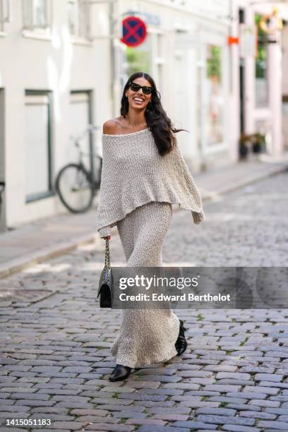
[[[142,18],[138,47],[116,40],[119,96],[128,76],[148,71],[162,95],[193,172],[231,162],[229,140],[229,0],[121,0],[119,16]]]

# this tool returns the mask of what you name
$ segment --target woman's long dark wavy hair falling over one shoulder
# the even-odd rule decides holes
[[[148,80],[153,88],[151,100],[145,109],[145,119],[147,126],[149,131],[152,133],[160,155],[166,155],[172,150],[172,148],[174,148],[174,145],[176,144],[176,137],[174,136],[174,133],[185,131],[186,129],[177,129],[174,127],[172,121],[169,119],[162,107],[160,102],[161,95],[156,88],[155,81],[148,73],[136,72],[133,73],[130,78],[128,78],[121,98],[120,113],[121,116],[124,116],[124,118],[126,117],[126,114],[128,113],[129,102],[128,98],[125,96],[125,92],[128,90],[130,83],[133,80],[142,77],[145,78],[145,80]]]

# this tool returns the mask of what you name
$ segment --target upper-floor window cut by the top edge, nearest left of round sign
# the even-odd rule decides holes
[[[90,37],[90,2],[88,0],[68,0],[68,24],[73,37]]]

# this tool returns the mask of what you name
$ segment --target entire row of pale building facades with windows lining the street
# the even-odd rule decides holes
[[[102,124],[119,115],[135,71],[151,74],[168,116],[186,129],[178,140],[192,172],[236,162],[241,133],[266,133],[268,152],[281,154],[287,26],[275,43],[258,40],[262,57],[249,33],[271,10],[248,0],[0,0],[1,224],[65,211],[54,181],[77,160],[71,136],[94,124],[81,145],[101,152]],[[285,23],[287,5],[280,15]],[[121,42],[128,16],[147,27],[137,47]]]

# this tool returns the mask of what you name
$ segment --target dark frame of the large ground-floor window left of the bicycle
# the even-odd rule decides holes
[[[47,152],[48,152],[48,190],[40,193],[25,195],[25,203],[32,203],[37,200],[55,196],[53,185],[53,161],[52,161],[52,90],[25,90],[26,96],[47,96]]]

